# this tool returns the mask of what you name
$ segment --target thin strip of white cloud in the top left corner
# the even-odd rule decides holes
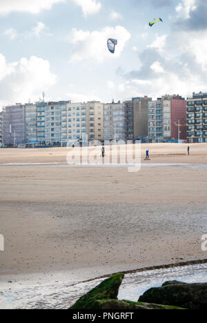
[[[63,2],[66,0],[1,0],[0,14],[8,14],[13,11],[38,14],[41,10],[51,9],[55,3]]]

